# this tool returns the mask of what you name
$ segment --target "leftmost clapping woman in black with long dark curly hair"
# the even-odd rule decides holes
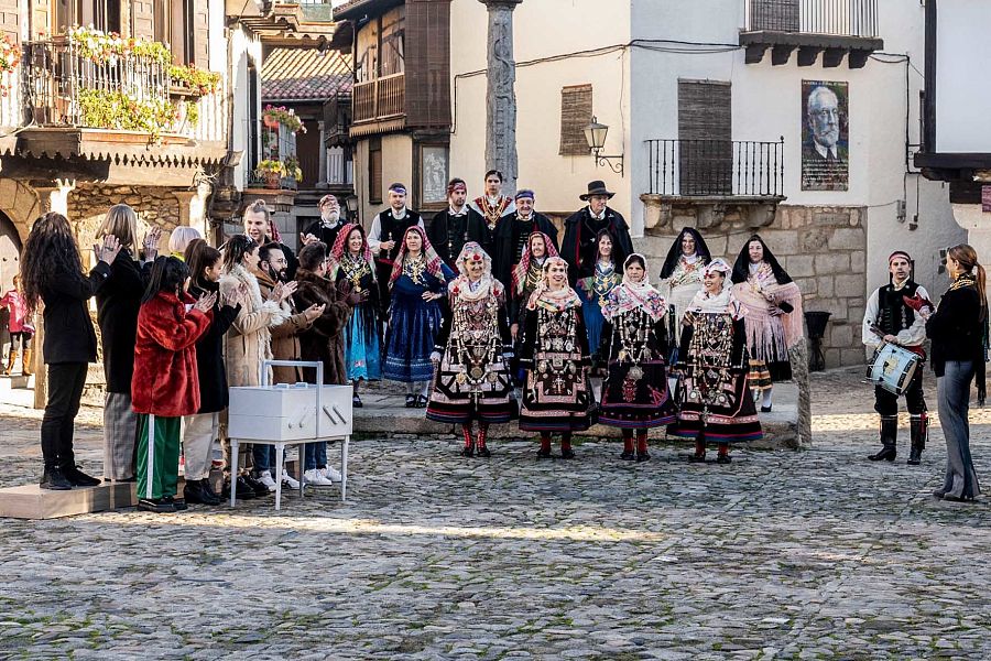
[[[98,261],[84,275],[68,219],[51,212],[35,220],[21,258],[21,282],[29,313],[44,302],[43,351],[48,366],[48,401],[41,427],[43,489],[65,490],[100,484],[76,466],[73,433],[86,384],[87,364],[96,362],[97,357],[96,332],[86,302],[110,277],[120,242],[108,236],[92,248]]]

